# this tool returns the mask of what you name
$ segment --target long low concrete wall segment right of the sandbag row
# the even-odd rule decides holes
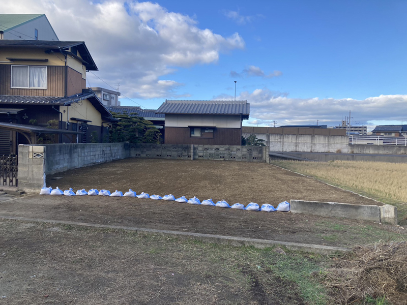
[[[375,222],[381,221],[380,207],[377,205],[290,200],[290,211],[293,213],[307,213],[326,217],[334,216]]]

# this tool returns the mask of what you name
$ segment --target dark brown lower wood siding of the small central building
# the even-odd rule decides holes
[[[189,127],[165,127],[165,144],[241,145],[240,128],[215,128],[213,139],[191,138]]]

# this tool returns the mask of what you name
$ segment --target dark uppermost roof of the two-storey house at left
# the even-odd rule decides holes
[[[72,47],[76,47],[82,58],[71,52],[70,48]],[[0,39],[0,48],[36,48],[45,49],[45,52],[62,52],[81,61],[86,70],[98,71],[98,67],[96,67],[91,53],[83,41]]]

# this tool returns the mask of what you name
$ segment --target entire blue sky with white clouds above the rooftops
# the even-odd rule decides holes
[[[245,125],[407,123],[407,1],[3,2],[85,41],[122,105],[234,99],[236,80]]]

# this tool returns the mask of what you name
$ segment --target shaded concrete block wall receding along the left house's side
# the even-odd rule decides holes
[[[129,157],[128,143],[47,144],[45,174]]]

